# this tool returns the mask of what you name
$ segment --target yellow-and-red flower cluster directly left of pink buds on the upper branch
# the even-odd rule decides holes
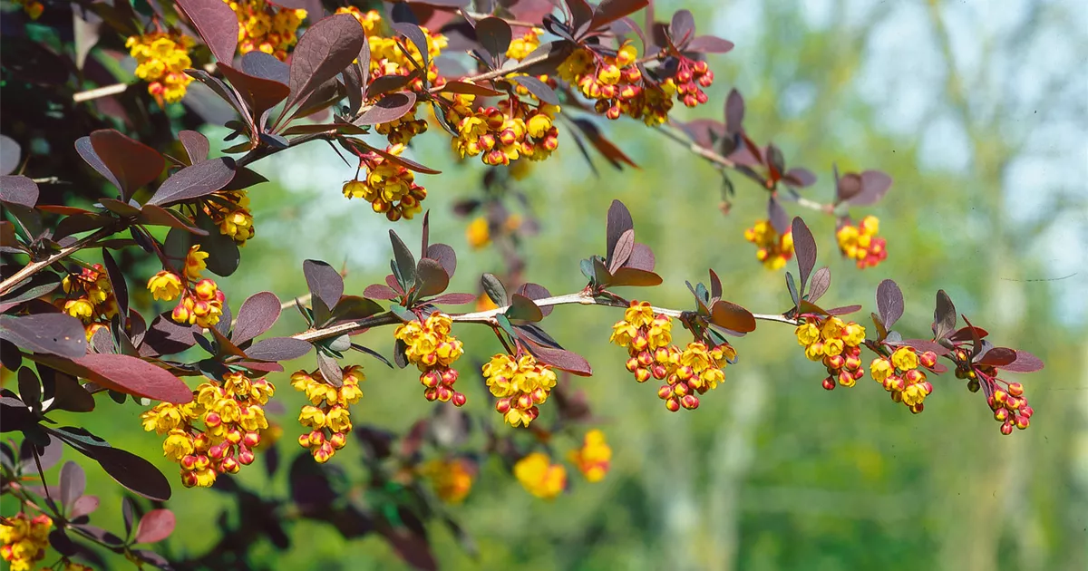
[[[596,57],[588,49],[579,49],[559,65],[559,77],[595,100],[597,113],[611,120],[628,115],[654,127],[668,120],[678,90],[671,78],[660,84],[644,80],[638,57],[639,51],[630,42],[625,42],[615,57]]]

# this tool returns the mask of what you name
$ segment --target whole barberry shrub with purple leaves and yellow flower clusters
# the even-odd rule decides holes
[[[694,411],[730,383],[726,369],[742,367],[744,352],[731,340],[764,324],[792,328],[805,357],[818,363],[814,381],[827,390],[854,387],[868,372],[893,402],[919,413],[941,386],[938,375],[954,369],[968,390],[981,392],[1002,434],[1030,424],[1025,388],[1006,373],[1039,370],[1041,361],[992,344],[943,290],[936,295],[931,334],[922,337],[893,328],[904,299],[891,280],[880,283],[867,319],[850,316],[861,306],[818,305],[831,272],[816,269],[817,241],[786,206],[832,216],[839,253],[870,269],[889,256],[886,238],[875,215],[855,221],[851,209],[878,202],[892,181],[879,171],[840,175],[832,167],[833,199],[804,197],[815,175],[788,169],[777,147],[756,142],[743,126],[744,101],[735,90],[722,121],[673,117],[676,108],[709,102],[704,89],[715,75],[706,54],[732,48],[697,34],[687,10],[665,23],[647,0],[518,0],[487,3],[487,13],[465,10],[467,0],[20,4],[23,17],[50,22],[35,28],[40,44],[26,41],[36,46],[34,58],[64,63],[57,74],[72,72],[47,85],[54,96],[78,91],[62,109],[78,121],[52,129],[42,113],[0,135],[0,363],[16,380],[0,389],[0,432],[18,436],[0,444],[0,493],[18,505],[0,519],[0,557],[12,569],[41,564],[50,546],[54,569],[100,567],[104,551],[163,569],[225,569],[262,536],[284,547],[280,520],[286,511],[329,522],[346,537],[380,533],[410,564],[434,568],[424,522],[465,536],[445,505],[472,492],[486,459],[497,459],[544,499],[571,487],[568,468],[591,483],[608,473],[613,450],[571,378],[593,370],[564,347],[561,332],[553,336],[542,325],[556,306],[615,310],[619,320],[601,343],[622,348],[634,382],[653,380],[670,412]],[[84,32],[74,42],[67,28],[51,23],[63,20],[52,11],[81,23]],[[640,12],[644,24],[632,18]],[[58,45],[64,49],[46,47]],[[107,70],[87,59],[91,51],[134,67],[133,77],[95,86],[109,82],[102,80]],[[4,80],[34,83],[17,73]],[[203,86],[203,99],[178,105],[194,97],[195,85]],[[195,129],[217,115],[212,103],[231,115],[224,123],[230,144],[217,157]],[[634,165],[606,138],[602,117],[641,122],[766,193],[766,218],[743,235],[764,268],[779,271],[795,261],[780,307],[754,313],[727,300],[713,270],[706,284],[687,284],[687,308],[656,307],[645,300],[652,294],[623,297],[617,288],[653,287],[663,277],[618,200],[599,226],[604,249],[580,262],[584,287],[552,295],[526,282],[523,261],[512,257],[505,278],[483,274],[475,293],[447,291],[457,253],[431,241],[428,189],[417,177],[440,173],[406,156],[417,137],[445,137],[455,159],[482,163],[484,195],[458,203],[456,212],[473,216],[467,226],[473,248],[505,248],[536,224],[502,203],[516,181],[531,175],[530,162],[572,145],[586,157],[595,149],[616,167]],[[244,247],[262,237],[248,193],[259,191],[264,178],[249,165],[289,158],[290,149],[317,141],[355,169],[341,190],[346,199],[369,202],[375,214],[360,214],[360,223],[383,215],[411,224],[422,214],[422,244],[409,247],[391,231],[391,273],[362,291],[347,291],[343,272],[329,263],[307,260],[306,296],[282,302],[262,291],[238,302],[212,276],[236,272]],[[51,158],[41,160],[35,146],[48,147]],[[75,157],[89,169],[75,166]],[[53,191],[58,182],[79,190]],[[731,199],[730,191],[724,210]],[[147,263],[156,270],[141,273]],[[137,308],[141,299],[160,303]],[[468,303],[474,311],[457,309]],[[267,336],[292,308],[301,314],[298,333]],[[467,347],[459,335],[470,326],[492,332],[495,342]],[[392,351],[353,340],[369,330],[387,331]],[[366,364],[345,362],[353,351],[367,355]],[[474,364],[467,355],[482,360]],[[308,364],[292,374],[280,364],[301,358]],[[367,371],[380,377],[374,371],[386,365],[415,367],[431,402],[421,399],[417,410],[406,411],[420,420],[404,434],[353,418]],[[269,419],[274,385],[287,382],[308,401],[293,429]],[[97,396],[103,393],[113,404]],[[461,409],[477,399],[497,415]],[[140,408],[147,437],[154,433],[161,440],[176,476],[51,418],[60,411],[102,414],[114,406]],[[484,442],[467,444],[468,426],[483,427]],[[262,455],[265,470],[275,473],[282,452],[273,444],[285,433],[298,445],[288,468],[289,497],[257,495],[232,480]],[[560,451],[557,435],[579,444]],[[348,445],[361,448],[368,488],[388,496],[372,509],[335,501],[337,473],[324,464]],[[59,479],[46,476],[64,451],[98,463],[145,498],[125,501],[123,532],[90,524],[98,499],[85,494],[78,464],[64,463]],[[242,521],[228,550],[169,561],[137,547],[172,532],[175,518],[163,504],[171,481],[237,498]]]

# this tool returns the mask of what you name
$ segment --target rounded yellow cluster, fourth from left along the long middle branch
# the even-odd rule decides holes
[[[555,371],[528,352],[518,358],[499,353],[483,365],[484,381],[498,398],[495,410],[511,426],[529,426],[540,415],[540,405],[555,388]]]

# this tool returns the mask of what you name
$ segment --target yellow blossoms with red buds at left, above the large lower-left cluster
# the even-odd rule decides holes
[[[173,301],[181,299],[170,313],[176,323],[211,327],[219,323],[223,315],[223,303],[226,295],[214,281],[200,278],[201,272],[208,268],[208,252],[200,246],[193,246],[185,256],[185,269],[182,274],[171,270],[162,270],[151,276],[147,288],[154,299]]]

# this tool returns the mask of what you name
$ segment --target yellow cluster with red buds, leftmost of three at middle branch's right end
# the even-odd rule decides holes
[[[862,367],[862,347],[865,327],[839,318],[809,315],[794,330],[798,343],[805,348],[805,357],[821,361],[827,368],[824,388],[831,390],[836,383],[851,387],[865,375]]]

